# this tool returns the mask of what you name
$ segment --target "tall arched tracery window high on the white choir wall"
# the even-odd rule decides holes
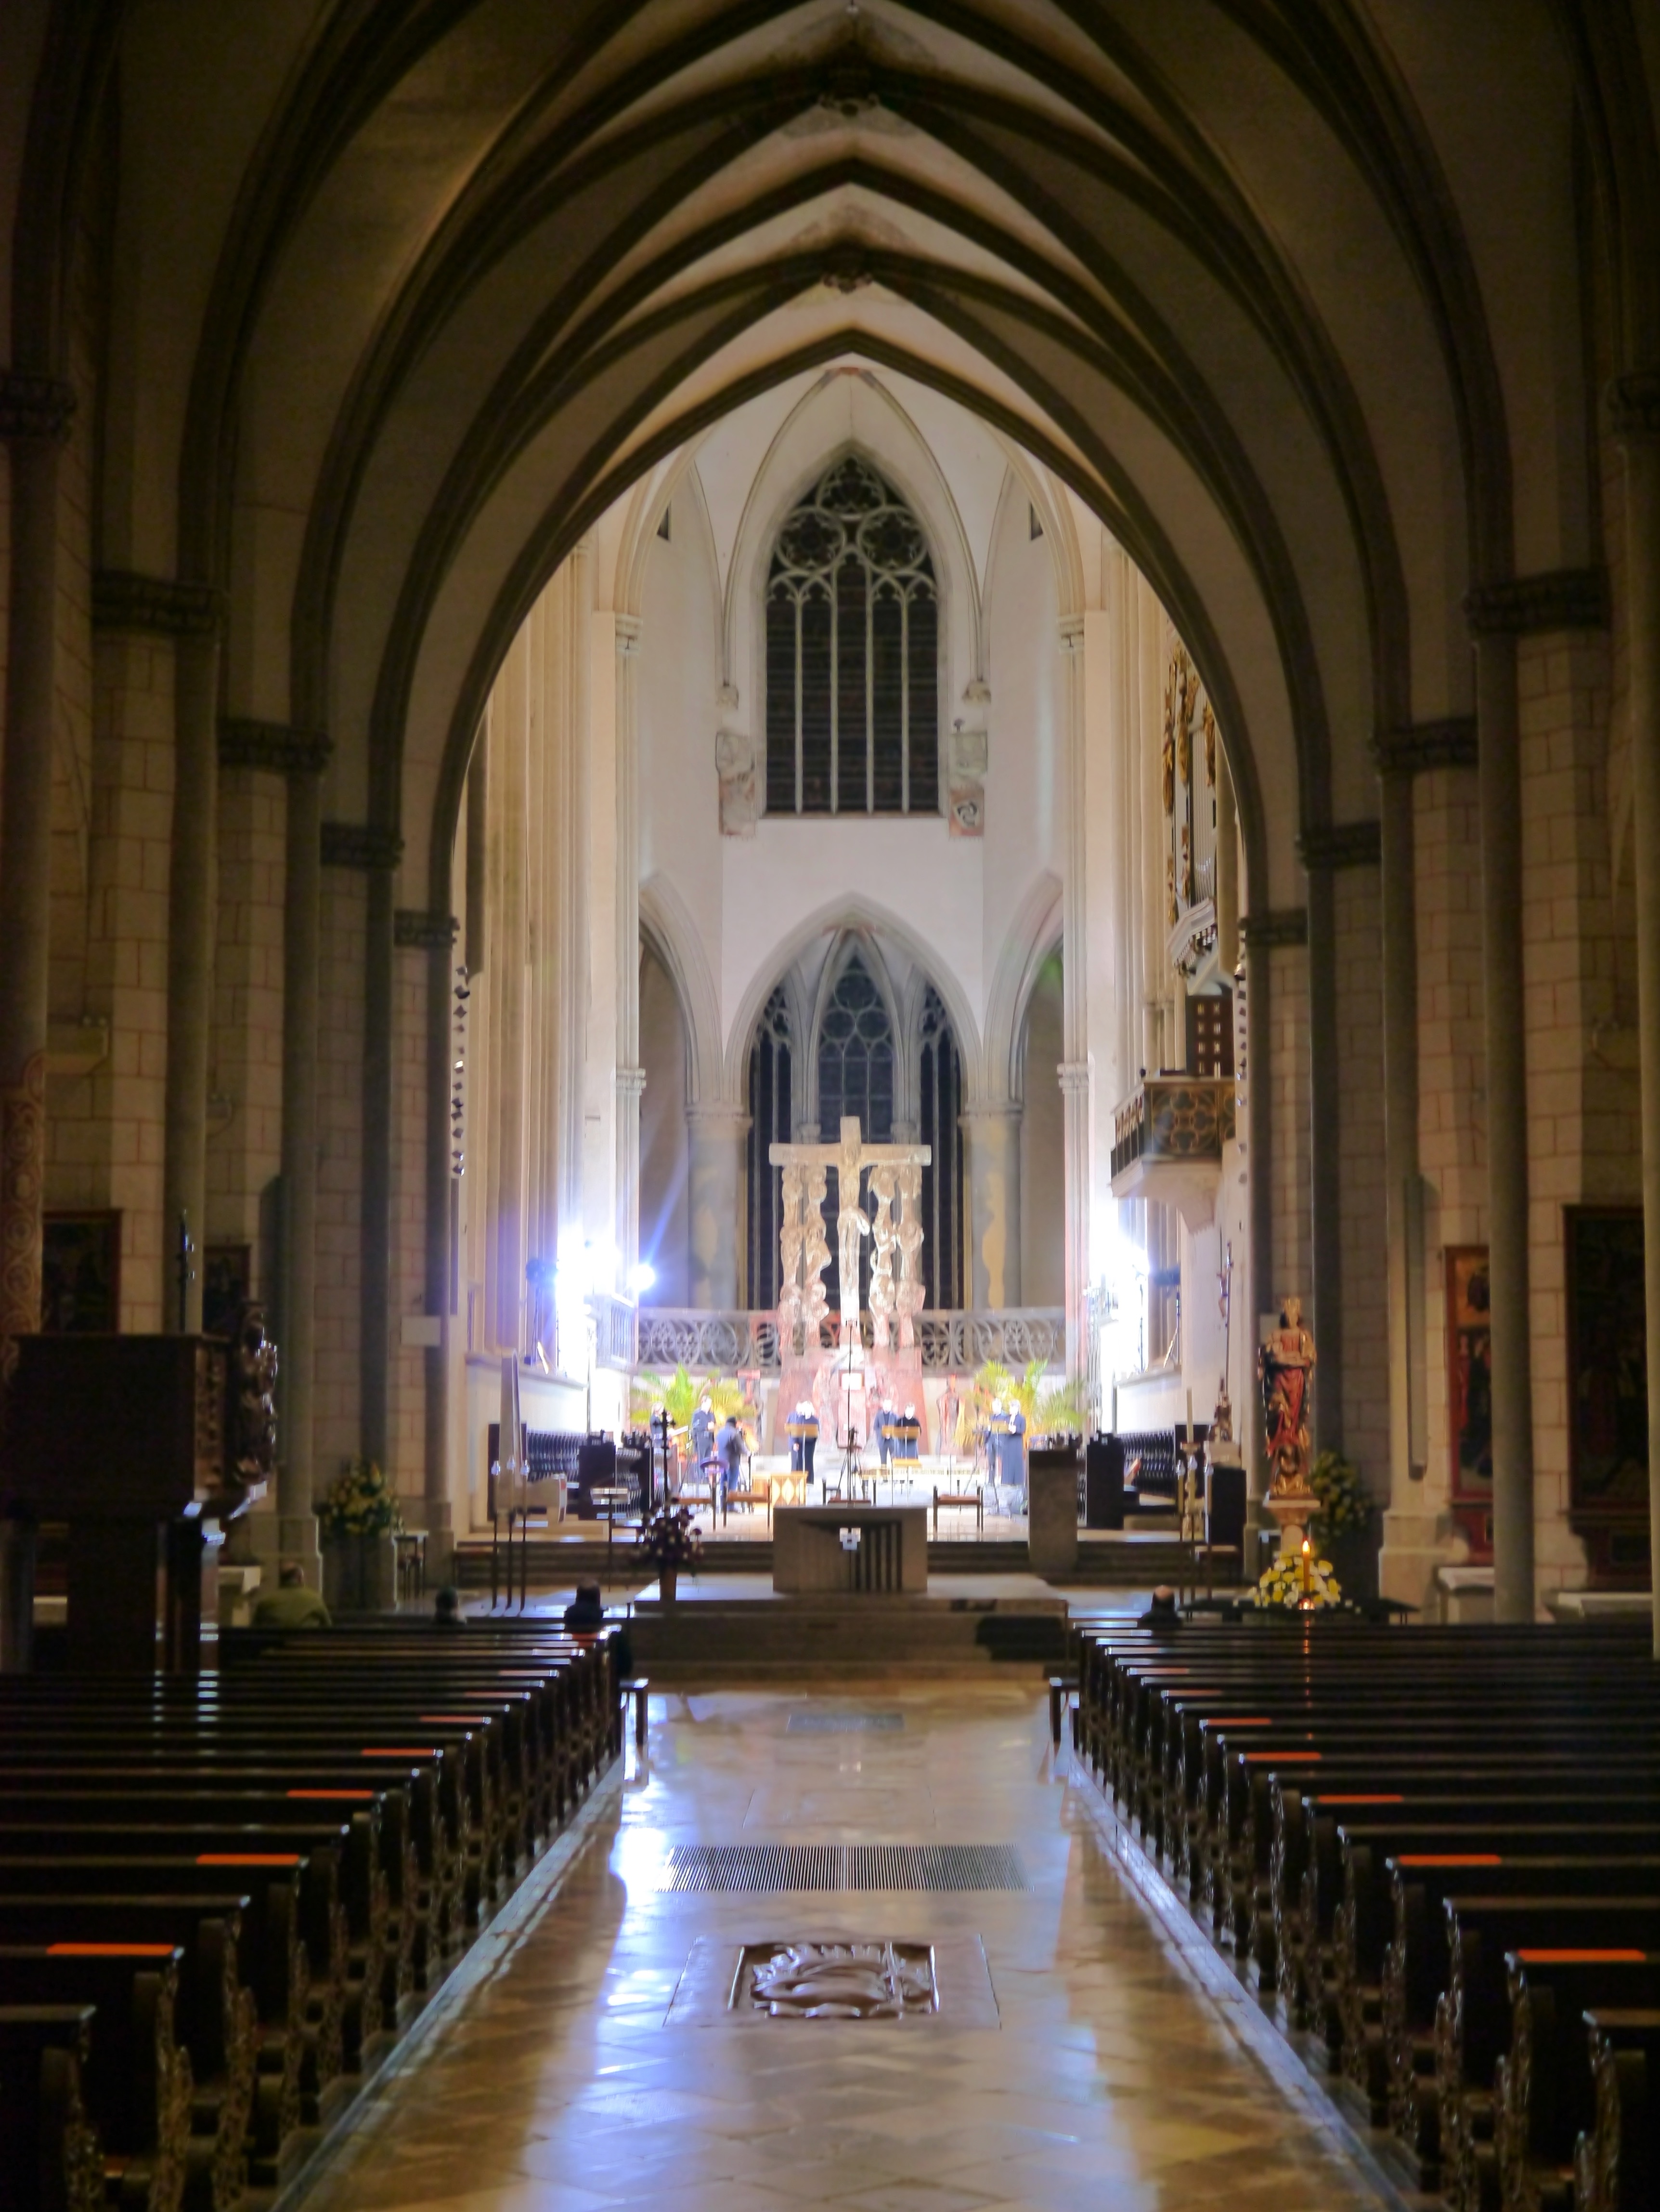
[[[939,812],[928,540],[855,456],[778,531],[767,575],[767,814]]]

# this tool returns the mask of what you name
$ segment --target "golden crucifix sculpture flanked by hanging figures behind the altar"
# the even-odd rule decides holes
[[[860,1334],[860,1239],[873,1239],[871,1334],[884,1352],[900,1318],[900,1345],[917,1340],[922,1285],[922,1170],[933,1161],[926,1144],[862,1144],[858,1115],[842,1117],[840,1144],[774,1144],[774,1168],[782,1168],[782,1221],[778,1228],[778,1347],[785,1356],[818,1349],[818,1325],[829,1312],[824,1270],[824,1186],[836,1168],[836,1234],[842,1248],[842,1343]],[[860,1177],[871,1170],[875,1212],[860,1203]],[[897,1219],[895,1219],[897,1206]],[[900,1254],[897,1281],[893,1254]]]

